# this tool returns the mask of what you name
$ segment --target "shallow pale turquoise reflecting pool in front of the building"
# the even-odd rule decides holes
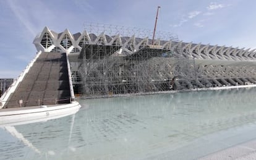
[[[256,88],[80,99],[77,114],[0,128],[0,159],[198,159],[256,138]]]

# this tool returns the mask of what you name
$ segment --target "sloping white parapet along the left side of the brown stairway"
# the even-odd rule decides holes
[[[30,70],[30,68],[32,67],[32,65],[36,61],[36,59],[40,56],[40,54],[41,54],[41,51],[39,51],[36,54],[36,56],[33,58],[33,60],[27,65],[27,67],[19,75],[19,77],[17,77],[17,79],[14,80],[14,83],[12,83],[12,85],[8,88],[8,90],[4,93],[4,95],[1,96],[1,98],[0,98],[0,109],[2,109],[2,107],[4,107],[4,104],[6,104],[6,101],[9,98],[9,96],[12,93],[14,93],[14,91],[17,88],[17,86],[19,85],[20,82],[22,82],[23,78],[28,73],[28,71]]]

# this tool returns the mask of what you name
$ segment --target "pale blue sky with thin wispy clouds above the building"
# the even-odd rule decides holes
[[[179,40],[256,48],[255,0],[0,0],[0,78],[17,78],[36,54],[45,26],[83,31],[90,22],[175,33]]]

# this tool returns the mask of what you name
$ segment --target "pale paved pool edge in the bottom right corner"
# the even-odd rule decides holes
[[[209,154],[200,160],[210,159],[256,159],[256,140]]]

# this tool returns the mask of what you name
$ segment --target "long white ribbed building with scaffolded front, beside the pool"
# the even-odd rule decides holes
[[[256,82],[255,49],[159,39],[152,43],[148,37],[95,35],[87,30],[56,33],[48,27],[33,43],[38,51],[67,53],[72,77],[82,77],[87,96]]]

